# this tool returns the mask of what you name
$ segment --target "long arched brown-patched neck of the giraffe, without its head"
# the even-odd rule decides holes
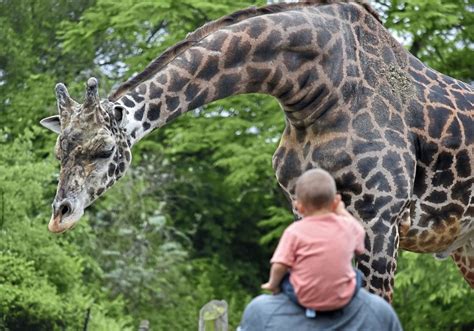
[[[126,131],[135,143],[189,110],[243,93],[276,97],[299,128],[334,115],[334,108],[347,110],[362,79],[355,55],[361,48],[355,24],[361,21],[378,24],[360,6],[337,4],[257,16],[214,31],[118,100],[127,110]]]

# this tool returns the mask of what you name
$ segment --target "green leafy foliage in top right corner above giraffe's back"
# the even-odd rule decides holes
[[[376,1],[386,26],[409,40],[408,49],[440,72],[474,79],[474,12],[468,0]]]

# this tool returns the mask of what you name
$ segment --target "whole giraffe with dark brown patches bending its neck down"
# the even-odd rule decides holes
[[[474,88],[427,67],[364,1],[307,1],[235,12],[190,33],[99,100],[56,86],[61,172],[52,232],[128,169],[131,148],[181,114],[263,93],[286,127],[272,164],[289,199],[305,170],[328,170],[367,235],[365,287],[388,301],[398,249],[452,256],[474,287]]]

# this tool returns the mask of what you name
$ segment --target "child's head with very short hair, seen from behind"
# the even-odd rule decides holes
[[[296,181],[296,209],[309,215],[317,211],[334,211],[340,202],[334,178],[323,169],[311,169]]]

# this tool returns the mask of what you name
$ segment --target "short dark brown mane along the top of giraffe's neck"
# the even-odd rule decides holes
[[[164,66],[170,63],[176,56],[180,55],[185,50],[189,49],[193,45],[197,44],[202,39],[206,38],[209,34],[219,30],[220,28],[230,26],[232,24],[239,23],[248,18],[263,16],[268,14],[280,13],[292,9],[298,9],[310,6],[322,6],[330,5],[335,3],[356,3],[362,6],[367,12],[369,12],[377,21],[382,23],[378,13],[369,5],[367,0],[300,0],[294,3],[278,3],[262,7],[249,7],[246,9],[238,10],[232,14],[221,17],[217,20],[211,21],[204,24],[194,32],[189,33],[186,38],[177,44],[166,49],[160,56],[154,59],[141,73],[130,78],[126,82],[122,83],[113,91],[108,99],[109,101],[116,101],[128,90],[137,87],[140,83],[148,80],[155,73],[161,70]]]

